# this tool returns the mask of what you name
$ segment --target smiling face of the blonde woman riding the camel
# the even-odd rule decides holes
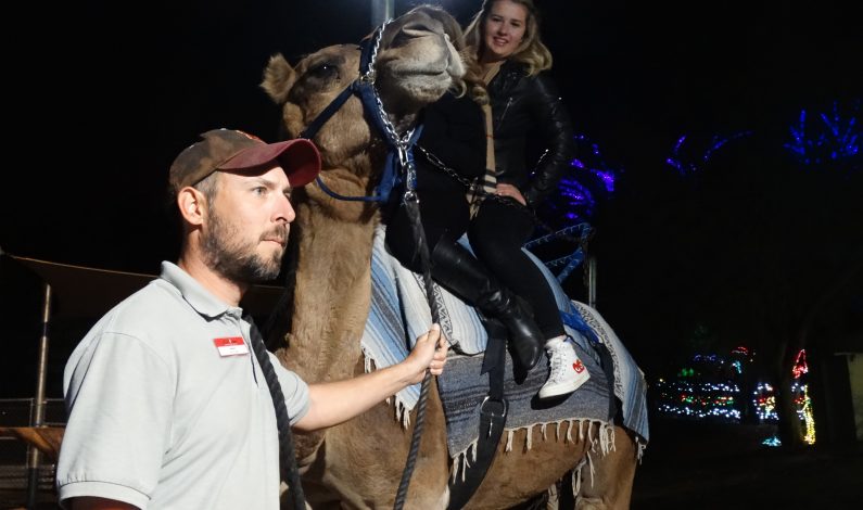
[[[521,44],[526,27],[524,5],[510,0],[492,3],[482,27],[484,48],[480,61],[487,64],[507,59]]]

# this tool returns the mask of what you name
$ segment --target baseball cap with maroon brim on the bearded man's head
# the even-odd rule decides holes
[[[168,180],[176,194],[216,170],[242,170],[278,162],[297,188],[312,182],[320,171],[320,153],[310,140],[299,138],[265,143],[254,135],[236,129],[213,129],[202,141],[183,150],[170,165]]]

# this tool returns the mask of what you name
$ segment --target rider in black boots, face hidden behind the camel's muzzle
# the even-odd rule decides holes
[[[435,11],[422,5],[414,9]],[[433,13],[431,13],[433,15]],[[443,17],[449,40],[461,49],[461,28],[450,16]],[[530,370],[542,358],[542,332],[518,296],[502,286],[487,269],[456,241],[465,234],[470,211],[464,181],[475,180],[485,173],[486,129],[483,106],[487,94],[479,76],[479,66],[470,55],[465,59],[464,82],[455,84],[422,114],[423,130],[415,149],[416,192],[426,242],[431,252],[431,276],[441,285],[483,315],[498,319],[507,328],[520,365]],[[404,189],[396,196],[401,199]],[[405,267],[422,272],[422,264],[408,214],[403,201],[384,211],[385,244]]]

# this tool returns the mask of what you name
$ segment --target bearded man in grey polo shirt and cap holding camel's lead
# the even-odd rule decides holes
[[[250,354],[261,339],[238,305],[278,275],[291,189],[317,176],[320,155],[307,140],[266,144],[227,129],[202,138],[170,167],[183,226],[177,265],[164,262],[66,365],[56,483],[73,510],[279,508],[267,367]],[[427,369],[440,374],[446,345],[433,324],[398,365],[308,385],[269,356],[291,425],[309,431],[364,412]]]

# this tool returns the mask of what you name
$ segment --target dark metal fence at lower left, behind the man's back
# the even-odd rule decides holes
[[[33,423],[33,398],[0,399],[0,426],[29,426]],[[63,400],[45,400],[45,425],[63,425],[66,411]],[[28,446],[14,437],[0,437],[0,510],[26,508],[51,509],[56,506],[54,468],[50,461],[40,462],[35,476],[35,501],[30,495],[31,471],[28,466]]]

